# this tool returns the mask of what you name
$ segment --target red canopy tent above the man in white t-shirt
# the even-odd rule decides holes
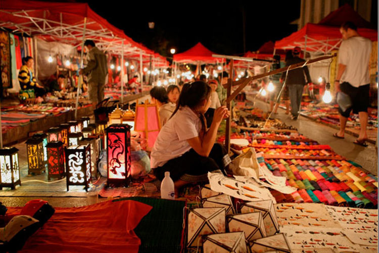
[[[342,41],[340,25],[345,21],[355,22],[361,36],[372,41],[377,40],[377,30],[371,29],[370,23],[360,17],[349,5],[344,5],[331,12],[320,23],[308,23],[299,31],[276,41],[275,49],[293,49],[299,46],[306,52],[330,53],[338,49]]]

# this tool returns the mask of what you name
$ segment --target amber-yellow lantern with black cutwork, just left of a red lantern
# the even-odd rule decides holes
[[[45,170],[43,139],[31,137],[26,142],[28,174],[40,175]]]

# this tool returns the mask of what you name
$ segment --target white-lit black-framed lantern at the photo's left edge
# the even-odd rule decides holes
[[[15,147],[0,149],[0,190],[3,190],[3,187],[11,187],[14,190],[16,185],[21,185],[17,152],[18,149]]]

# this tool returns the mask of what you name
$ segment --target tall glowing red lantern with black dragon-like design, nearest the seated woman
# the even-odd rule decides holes
[[[106,132],[107,182],[127,186],[131,175],[130,125],[112,124]]]

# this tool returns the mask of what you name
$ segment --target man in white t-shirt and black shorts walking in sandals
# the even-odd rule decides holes
[[[368,65],[372,43],[368,38],[361,37],[357,26],[352,22],[345,22],[340,28],[344,39],[338,54],[338,71],[335,80],[336,92],[343,92],[350,97],[352,107],[340,112],[340,132],[333,136],[343,139],[345,127],[351,110],[359,114],[361,130],[355,144],[366,147],[366,126],[368,121],[367,109],[369,106],[370,78]],[[341,83],[341,84],[340,84]]]

